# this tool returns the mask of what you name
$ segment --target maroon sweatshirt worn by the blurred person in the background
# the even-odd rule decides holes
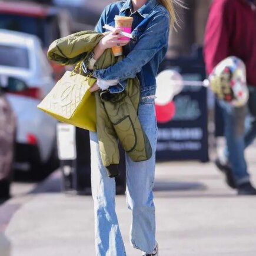
[[[204,41],[207,74],[228,56],[238,56],[245,62],[248,84],[256,86],[255,26],[249,1],[212,1]]]

